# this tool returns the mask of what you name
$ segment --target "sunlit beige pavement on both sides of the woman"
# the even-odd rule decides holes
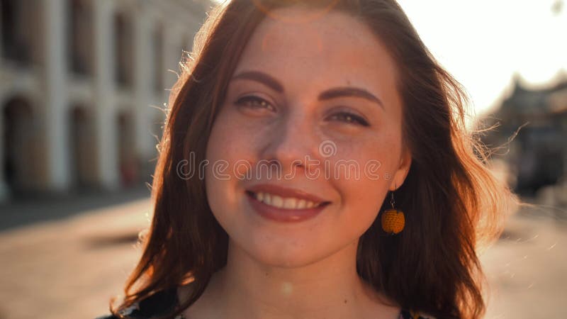
[[[150,225],[147,194],[0,206],[0,222],[11,220],[0,230],[0,319],[108,313],[109,298],[122,293],[140,257],[135,242]],[[522,209],[482,255],[491,291],[485,318],[567,313],[567,223],[554,218],[553,209]],[[19,221],[18,210],[24,212]],[[33,215],[41,213],[48,218],[33,222]]]

